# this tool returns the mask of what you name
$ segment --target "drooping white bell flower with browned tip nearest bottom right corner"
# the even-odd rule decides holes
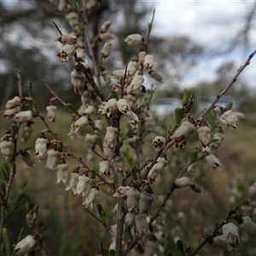
[[[228,223],[222,227],[224,239],[228,242],[228,251],[240,252],[241,241],[239,237],[239,229],[235,224]]]

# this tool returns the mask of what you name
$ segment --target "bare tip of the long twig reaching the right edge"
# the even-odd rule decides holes
[[[207,110],[205,110],[203,113],[201,113],[200,117],[204,117],[208,112],[210,112],[212,110],[212,108],[214,108],[215,104],[218,102],[218,100],[224,96],[224,93],[230,89],[230,87],[235,84],[237,78],[240,76],[241,72],[250,64],[250,61],[253,59],[253,56],[256,54],[256,49],[247,57],[247,60],[244,62],[244,64],[238,68],[236,75],[233,77],[233,79],[231,79],[230,84],[228,84],[224,90],[222,90],[222,92],[216,96],[216,99],[214,100],[214,102],[212,102],[211,106],[209,108],[207,108]]]

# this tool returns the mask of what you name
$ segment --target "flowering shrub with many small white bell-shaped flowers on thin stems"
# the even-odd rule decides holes
[[[66,13],[66,19],[73,28],[72,34],[62,34],[55,24],[56,33],[60,33],[56,41],[62,44],[56,54],[60,57],[60,65],[63,61],[75,61],[70,77],[74,93],[81,96],[80,108],[76,109],[72,104],[64,102],[41,79],[53,96],[46,107],[47,119],[44,119],[38,109],[37,99],[32,97],[32,91],[27,96],[23,95],[19,75],[19,95],[10,99],[3,111],[3,117],[11,121],[0,143],[3,156],[0,168],[0,236],[8,255],[9,233],[5,222],[21,201],[26,206],[26,220],[31,234],[23,239],[24,235],[21,234],[14,250],[18,255],[33,250],[47,255],[47,244],[43,243],[44,234],[41,234],[37,224],[38,205],[34,206],[26,195],[27,183],[20,188],[14,199],[10,198],[15,172],[19,172],[15,165],[18,155],[22,156],[27,166],[43,161],[45,168],[56,170],[56,183],[66,183],[66,191],[71,190],[73,196],[83,197],[81,207],[112,236],[112,243],[102,247],[102,255],[173,255],[172,250],[167,252],[165,245],[160,243],[164,227],[157,220],[166,222],[166,204],[173,191],[189,187],[196,193],[201,192],[193,168],[200,160],[206,160],[209,168],[221,166],[214,151],[224,139],[224,129],[238,126],[240,115],[231,109],[220,108],[211,124],[206,115],[218,107],[215,105],[218,99],[235,83],[255,52],[248,57],[230,84],[219,93],[212,106],[199,117],[195,118],[190,113],[195,94],[189,95],[188,90],[184,90],[183,104],[175,111],[176,119],[172,127],[164,131],[164,136],[159,135],[154,130],[154,117],[150,111],[152,91],[146,89],[150,79],[158,84],[164,82],[164,76],[154,68],[154,55],[149,51],[154,15],[148,24],[146,37],[134,33],[124,38],[127,47],[137,48],[137,59],[129,61],[122,69],[111,72],[104,67],[104,63],[114,47],[114,35],[108,32],[112,22],[103,22],[96,38],[90,38],[87,11],[94,7],[93,3],[94,1],[88,1],[84,5],[78,5],[60,0],[58,9]],[[102,47],[98,59],[93,51],[96,45]],[[111,85],[112,91],[108,95],[103,93],[104,84]],[[49,122],[58,122],[59,119],[55,104],[63,105],[71,114],[67,141],[61,141],[58,134],[49,127]],[[27,149],[23,144],[20,149],[17,144],[19,140],[26,142],[30,139],[34,119],[40,119],[44,128],[34,143],[33,155],[32,149]],[[186,148],[189,138],[196,132],[200,146],[191,152],[187,164],[180,168],[180,172],[169,183],[169,190],[160,199],[155,184],[166,178],[161,175],[164,169],[172,169],[171,149]],[[150,134],[157,135],[151,142],[151,153],[147,156],[143,154],[143,145],[147,144]],[[70,139],[86,143],[87,155],[79,157],[74,154],[68,147]],[[127,148],[132,149],[133,153],[127,154]],[[70,159],[76,161],[72,172],[68,166]],[[95,163],[96,168],[93,167]],[[108,216],[113,213],[107,212],[103,207],[105,195],[111,195],[116,205],[113,209],[115,218],[111,222]],[[221,229],[223,234],[219,233]],[[240,230],[253,238],[256,236],[256,224],[252,218],[238,214],[236,208],[228,212],[211,233],[203,236],[197,247],[184,249],[180,240],[177,240],[177,247],[183,255],[189,256],[195,255],[206,243],[212,247],[220,247],[225,252],[240,252]]]

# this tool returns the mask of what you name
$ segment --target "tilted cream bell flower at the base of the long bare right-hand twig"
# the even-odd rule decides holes
[[[176,131],[174,131],[172,138],[174,138],[176,147],[183,147],[187,142],[189,136],[195,130],[195,126],[192,125],[189,121],[183,121]]]

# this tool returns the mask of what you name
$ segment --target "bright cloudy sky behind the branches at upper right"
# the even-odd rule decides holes
[[[244,17],[254,1],[152,1],[156,3],[154,33],[159,35],[187,35],[196,42],[222,51],[235,38],[244,24]],[[214,71],[226,61],[241,66],[256,49],[256,26],[249,34],[247,48],[239,48],[229,55],[218,55],[201,60],[198,67],[184,81],[184,86],[201,79],[214,79]],[[256,58],[242,74],[247,84],[256,88]]]

